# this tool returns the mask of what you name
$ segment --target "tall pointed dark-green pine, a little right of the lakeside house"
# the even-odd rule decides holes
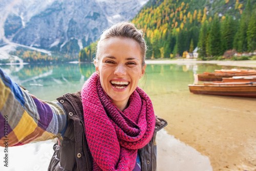
[[[221,48],[221,32],[220,32],[220,22],[218,14],[215,14],[214,20],[212,21],[210,33],[209,33],[209,50],[210,55],[219,56],[222,55]]]

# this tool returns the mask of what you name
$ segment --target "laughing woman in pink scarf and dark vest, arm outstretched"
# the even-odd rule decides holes
[[[133,24],[112,26],[98,42],[96,73],[81,91],[58,102],[38,100],[11,81],[14,86],[9,86],[2,74],[5,85],[0,88],[11,89],[23,104],[19,113],[27,113],[10,125],[8,135],[16,135],[12,145],[58,137],[49,170],[156,170],[156,132],[167,123],[155,116],[150,98],[137,87],[146,68],[145,53],[143,33]],[[7,97],[8,91],[2,94]],[[13,98],[5,99],[0,102],[2,116]],[[26,124],[29,131],[23,128],[25,119],[32,122]]]

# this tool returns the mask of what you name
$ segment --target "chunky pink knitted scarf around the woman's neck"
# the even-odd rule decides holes
[[[150,142],[155,129],[150,98],[137,87],[121,112],[96,73],[84,83],[81,98],[93,170],[133,170],[138,149]]]

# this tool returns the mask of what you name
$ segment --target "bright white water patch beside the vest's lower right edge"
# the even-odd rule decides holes
[[[157,134],[157,145],[158,170],[212,171],[208,157],[169,135],[164,129]]]

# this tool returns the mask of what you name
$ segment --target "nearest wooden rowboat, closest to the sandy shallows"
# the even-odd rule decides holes
[[[256,97],[256,82],[211,82],[188,84],[189,91],[196,94]]]

